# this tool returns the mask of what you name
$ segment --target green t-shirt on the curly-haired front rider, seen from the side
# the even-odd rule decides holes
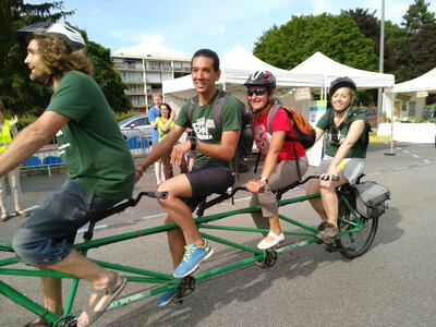
[[[101,197],[132,196],[133,158],[97,83],[82,72],[65,73],[46,110],[70,118],[57,133],[68,178]]]

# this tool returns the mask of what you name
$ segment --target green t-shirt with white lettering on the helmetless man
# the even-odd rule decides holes
[[[222,131],[215,128],[214,107],[218,93],[219,89],[216,90],[210,101],[204,106],[199,106],[197,102],[192,113],[192,129],[195,132],[196,137],[199,141],[209,144],[220,144],[222,132],[241,130],[242,124],[240,104],[235,97],[228,95],[222,104]],[[183,105],[182,110],[175,120],[175,124],[179,126],[191,126],[187,114],[189,104],[190,100]],[[202,166],[205,164],[214,164],[226,167],[227,169],[230,168],[228,161],[218,160],[198,152],[195,159],[195,166]]]

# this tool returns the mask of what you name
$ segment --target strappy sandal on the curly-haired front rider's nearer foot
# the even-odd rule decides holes
[[[77,327],[90,326],[95,320],[97,320],[105,312],[105,310],[109,306],[110,303],[121,293],[126,284],[126,279],[121,277],[121,284],[117,284],[118,274],[112,272],[112,278],[109,284],[104,289],[93,289],[93,293],[97,296],[94,299],[92,304],[86,304],[83,311],[88,316],[88,322],[86,324],[80,324],[77,322]],[[95,307],[101,301],[105,295],[110,295],[109,299],[106,300],[106,303],[101,306],[99,311],[96,311]]]

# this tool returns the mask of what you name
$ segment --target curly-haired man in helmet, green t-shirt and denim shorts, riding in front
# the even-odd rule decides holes
[[[20,166],[55,135],[68,168],[66,182],[41,204],[12,240],[19,259],[40,269],[65,272],[93,286],[77,326],[95,322],[123,290],[125,279],[73,249],[78,228],[132,195],[133,158],[109,104],[89,76],[82,35],[60,23],[37,23],[17,31],[27,45],[31,80],[50,87],[50,104],[0,156],[0,177]],[[41,278],[45,305],[62,314],[61,279]],[[51,325],[51,324],[50,324]],[[38,317],[26,326],[49,326]]]

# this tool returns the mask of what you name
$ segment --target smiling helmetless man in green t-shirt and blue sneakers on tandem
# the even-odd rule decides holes
[[[222,126],[215,128],[214,105],[220,92],[215,83],[220,74],[217,53],[209,49],[201,49],[194,53],[191,60],[191,76],[198,101],[192,117],[189,114],[187,101],[171,132],[137,168],[142,172],[152,166],[166,154],[167,148],[175,144],[187,128],[192,126],[195,136],[174,145],[171,153],[171,164],[180,166],[187,152],[197,150],[192,171],[166,180],[158,186],[158,191],[168,192],[167,199],[159,199],[159,204],[168,213],[165,222],[175,222],[180,227],[168,232],[175,278],[192,274],[199,263],[213,253],[210,244],[199,235],[192,211],[206,196],[223,193],[234,183],[229,161],[234,156],[241,133],[241,110],[238,99],[228,95],[222,105]],[[137,173],[136,180],[140,178]],[[175,294],[175,290],[164,292],[157,298],[156,304],[165,305]]]

